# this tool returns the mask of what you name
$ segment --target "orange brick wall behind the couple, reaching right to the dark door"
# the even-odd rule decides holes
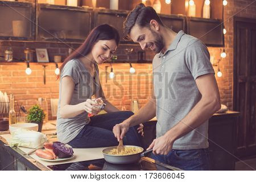
[[[232,16],[238,11],[236,16],[256,18],[256,3],[243,9],[251,3],[251,0],[234,1],[229,0],[228,5],[224,7],[225,28],[225,52],[227,56],[220,62],[222,77],[217,77],[218,86],[221,94],[221,102],[233,109],[233,18]],[[243,9],[243,10],[242,10]],[[242,10],[242,11],[241,11]],[[228,20],[227,20],[228,19]],[[61,55],[63,58],[68,54],[68,47],[77,48],[79,44],[61,44],[61,43],[42,43],[42,42],[0,42],[0,55],[3,55],[7,47],[13,47],[14,57],[24,58],[23,50],[28,47],[47,48],[49,59],[52,62],[54,55]],[[127,60],[124,48],[119,46],[117,55],[118,60]],[[137,51],[139,46],[129,46],[134,48],[130,59],[137,61]],[[220,48],[208,47],[210,55],[214,60],[220,59]],[[150,61],[154,53],[146,51],[146,60]],[[36,60],[36,56],[34,55]],[[46,85],[43,84],[43,67],[42,64],[32,63],[32,74],[27,76],[24,73],[26,65],[24,63],[0,64],[0,90],[8,94],[14,93],[15,99],[23,103],[27,108],[36,103],[38,97],[57,98],[59,96],[59,85],[54,74],[55,64],[48,63],[46,71]],[[139,98],[141,106],[146,103],[152,88],[152,65],[151,64],[133,64],[136,69],[135,75],[130,75],[129,64],[113,64],[116,77],[114,80],[108,78],[106,82],[105,67],[109,64],[100,66],[100,79],[106,96],[117,107],[121,108],[122,98],[125,98],[127,109],[130,108],[131,100]],[[214,67],[217,73],[217,67]],[[108,67],[108,72],[110,68]],[[119,73],[117,73],[119,72]],[[121,73],[123,72],[123,73]],[[123,77],[123,78],[122,78]],[[49,102],[48,102],[49,104]],[[50,106],[49,106],[50,108]],[[51,111],[49,110],[51,119]]]

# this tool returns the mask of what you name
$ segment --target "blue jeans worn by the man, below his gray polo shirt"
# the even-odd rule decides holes
[[[154,155],[151,158],[186,171],[208,171],[208,148],[195,150],[172,150],[168,155]]]

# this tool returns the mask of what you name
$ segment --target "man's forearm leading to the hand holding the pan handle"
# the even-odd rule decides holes
[[[208,100],[202,98],[193,109],[177,125],[172,127],[165,135],[174,142],[183,137],[196,127],[203,124],[220,109],[220,103],[217,100]]]

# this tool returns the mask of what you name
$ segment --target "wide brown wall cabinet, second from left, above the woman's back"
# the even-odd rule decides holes
[[[92,9],[38,4],[36,40],[84,42],[91,30]]]

